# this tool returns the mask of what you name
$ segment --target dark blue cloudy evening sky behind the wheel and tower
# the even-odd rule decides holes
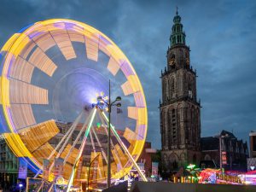
[[[72,2],[72,3],[71,3]],[[256,130],[256,2],[217,1],[1,1],[0,46],[38,20],[79,20],[105,33],[135,67],[148,102],[148,141],[160,148],[160,70],[178,6],[197,70],[201,136],[233,131],[247,140]]]

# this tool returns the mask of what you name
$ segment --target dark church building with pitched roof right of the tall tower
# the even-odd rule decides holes
[[[202,167],[208,167],[207,162],[213,162],[216,167],[225,170],[247,170],[248,158],[247,142],[237,139],[229,131],[221,131],[217,137],[201,138]]]

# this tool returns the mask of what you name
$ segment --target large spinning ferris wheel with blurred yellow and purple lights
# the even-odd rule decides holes
[[[75,20],[39,21],[9,38],[0,61],[3,137],[36,176],[43,177],[48,160],[53,181],[59,158],[69,185],[88,177],[106,183],[109,108],[102,103],[110,99],[108,79],[113,97],[122,97],[122,108],[115,105],[111,113],[111,177],[137,166],[148,124],[143,87],[106,35]]]

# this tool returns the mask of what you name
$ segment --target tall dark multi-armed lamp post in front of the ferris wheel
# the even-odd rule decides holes
[[[104,102],[108,106],[108,179],[107,179],[107,188],[111,185],[111,167],[110,167],[110,138],[111,138],[111,108],[113,106],[121,107],[121,103],[119,101],[122,100],[121,96],[117,96],[113,102],[111,102],[111,89],[110,89],[110,80],[108,82],[108,102],[102,99],[102,96],[97,97],[98,102]],[[118,103],[115,103],[118,102]]]

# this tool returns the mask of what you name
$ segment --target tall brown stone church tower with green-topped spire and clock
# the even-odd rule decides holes
[[[196,98],[196,71],[190,65],[189,46],[181,17],[173,18],[165,71],[161,72],[161,158],[164,172],[176,171],[201,158],[201,104]]]

